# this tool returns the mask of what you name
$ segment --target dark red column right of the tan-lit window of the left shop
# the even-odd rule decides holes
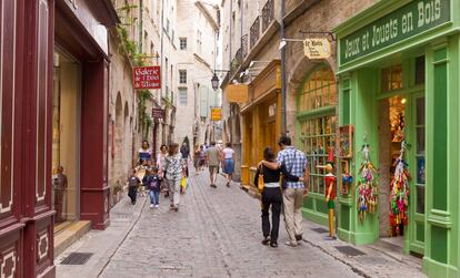
[[[103,59],[83,65],[80,218],[91,220],[96,229],[104,229],[110,223],[110,186],[107,183],[108,71],[109,64]]]

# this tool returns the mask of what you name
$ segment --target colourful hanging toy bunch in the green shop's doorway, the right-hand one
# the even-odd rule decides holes
[[[408,172],[408,164],[404,161],[404,154],[408,148],[406,141],[401,142],[401,152],[394,163],[394,176],[391,181],[390,188],[390,225],[399,235],[399,226],[408,225],[408,207],[409,207],[409,182],[411,179]]]

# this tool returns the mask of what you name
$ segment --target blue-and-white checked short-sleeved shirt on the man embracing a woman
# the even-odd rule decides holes
[[[284,164],[286,169],[292,176],[303,176],[303,171],[308,165],[307,156],[293,146],[287,146],[278,153],[277,162]],[[303,182],[288,182],[288,188],[303,188]]]

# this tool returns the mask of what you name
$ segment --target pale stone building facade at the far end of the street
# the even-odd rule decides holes
[[[219,6],[203,1],[180,1],[178,6],[177,106],[174,141],[186,137],[190,147],[209,143],[214,123],[210,107],[220,106],[219,92],[211,87],[217,63]]]

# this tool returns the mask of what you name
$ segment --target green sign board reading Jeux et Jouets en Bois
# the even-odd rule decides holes
[[[450,0],[420,0],[340,40],[340,64],[450,21]]]

